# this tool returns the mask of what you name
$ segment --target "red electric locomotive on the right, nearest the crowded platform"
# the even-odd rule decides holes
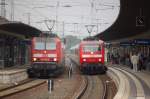
[[[105,73],[104,42],[82,41],[79,45],[80,70],[83,73]]]

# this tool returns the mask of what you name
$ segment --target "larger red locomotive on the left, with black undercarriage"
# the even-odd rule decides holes
[[[29,77],[58,76],[64,70],[64,47],[57,36],[33,37]]]

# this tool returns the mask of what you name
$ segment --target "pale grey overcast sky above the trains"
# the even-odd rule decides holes
[[[6,0],[7,18],[11,19],[11,1]],[[57,20],[53,32],[58,35],[88,36],[86,26],[93,25],[91,35],[110,27],[118,17],[119,0],[14,0],[14,20],[48,30],[43,20]],[[64,22],[64,25],[63,25]],[[51,27],[51,23],[48,24]],[[88,27],[90,29],[90,27]]]

